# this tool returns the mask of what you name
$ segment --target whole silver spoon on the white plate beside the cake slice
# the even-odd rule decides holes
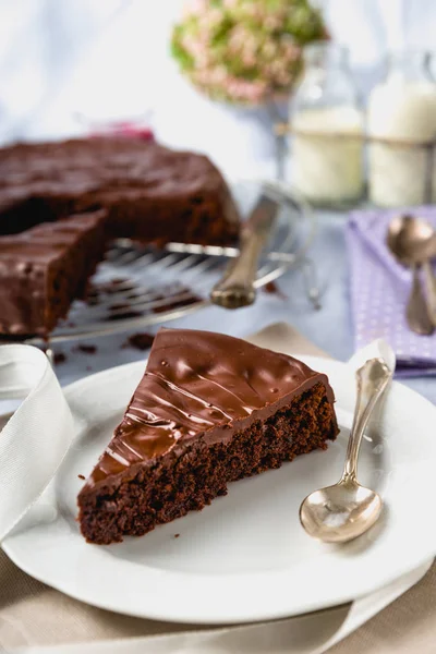
[[[311,493],[300,507],[300,521],[310,536],[346,543],[377,521],[383,501],[378,493],[358,482],[358,457],[363,432],[392,373],[383,359],[371,359],[356,371],[358,401],[341,479]]]

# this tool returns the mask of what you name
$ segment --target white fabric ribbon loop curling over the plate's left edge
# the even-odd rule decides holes
[[[53,479],[73,439],[73,416],[47,356],[0,348],[0,399],[23,399],[0,432],[0,542]]]

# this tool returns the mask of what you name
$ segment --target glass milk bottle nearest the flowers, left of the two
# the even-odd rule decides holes
[[[290,106],[293,185],[312,203],[340,206],[364,190],[364,117],[347,48],[312,44]]]

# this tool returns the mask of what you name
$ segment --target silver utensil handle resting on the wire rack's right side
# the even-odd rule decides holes
[[[249,220],[242,227],[239,255],[229,264],[222,279],[213,288],[210,300],[225,308],[240,308],[253,304],[256,298],[254,282],[257,263],[270,237],[277,211],[277,201],[261,195]]]

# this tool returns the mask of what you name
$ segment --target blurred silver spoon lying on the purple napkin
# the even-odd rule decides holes
[[[436,281],[429,259],[436,254],[436,237],[433,227],[421,218],[397,216],[390,221],[387,245],[397,259],[412,269],[407,319],[409,327],[421,335],[431,335],[436,325]],[[427,298],[420,279],[424,270]]]

